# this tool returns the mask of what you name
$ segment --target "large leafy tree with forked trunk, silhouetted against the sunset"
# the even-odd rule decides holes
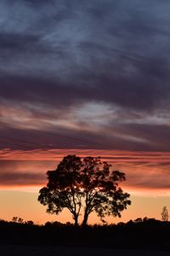
[[[111,165],[99,157],[67,155],[56,170],[48,171],[48,183],[39,191],[38,201],[48,206],[47,212],[62,212],[67,208],[75,225],[82,214],[86,225],[91,212],[103,220],[106,215],[121,217],[121,212],[131,204],[129,194],[123,193],[118,182],[125,181],[125,174],[110,171]]]

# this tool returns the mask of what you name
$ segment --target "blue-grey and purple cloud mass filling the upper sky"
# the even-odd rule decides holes
[[[167,1],[18,0],[13,9],[3,1],[1,9],[6,100],[48,108],[88,101],[137,111],[166,106]]]

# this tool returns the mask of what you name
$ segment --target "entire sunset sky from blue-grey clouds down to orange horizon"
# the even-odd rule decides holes
[[[0,218],[66,221],[37,195],[67,154],[126,173],[121,220],[170,211],[169,12],[168,0],[0,1]]]

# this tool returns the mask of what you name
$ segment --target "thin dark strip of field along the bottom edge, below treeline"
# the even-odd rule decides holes
[[[169,252],[88,247],[0,246],[1,256],[169,256]]]

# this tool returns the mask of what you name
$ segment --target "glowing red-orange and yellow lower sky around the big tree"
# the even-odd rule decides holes
[[[55,220],[64,223],[72,222],[69,212],[64,211],[59,216],[48,215],[46,207],[42,207],[37,202],[39,189],[47,183],[46,172],[54,170],[59,161],[68,153],[82,157],[100,155],[101,160],[106,160],[113,165],[113,169],[125,172],[127,181],[120,183],[120,186],[124,191],[130,193],[132,206],[127,207],[127,210],[122,212],[122,218],[106,218],[108,223],[127,222],[129,219],[144,218],[145,216],[160,218],[161,208],[164,205],[169,206],[170,189],[167,188],[167,179],[161,181],[160,187],[160,179],[165,177],[168,169],[168,165],[165,168],[165,163],[170,158],[168,153],[150,152],[146,154],[145,152],[137,153],[123,150],[82,149],[23,151],[7,148],[1,150],[0,153],[0,166],[4,167],[5,170],[4,174],[3,172],[0,174],[0,180],[5,179],[1,182],[3,185],[0,186],[0,205],[3,204],[3,212],[0,218],[10,220],[14,216],[19,216],[25,220],[32,219],[38,224]],[[162,154],[164,154],[163,159]],[[163,166],[162,170],[160,165]],[[7,178],[7,170],[10,180]],[[140,170],[143,170],[143,172]],[[151,183],[150,180],[152,180]],[[8,198],[6,203],[3,201],[4,195]],[[16,200],[17,207],[14,207],[13,201]],[[24,208],[23,200],[28,202],[28,204],[25,203]],[[32,211],[29,209],[30,207]],[[89,224],[96,222],[99,223],[99,218],[93,214],[89,219]]]

